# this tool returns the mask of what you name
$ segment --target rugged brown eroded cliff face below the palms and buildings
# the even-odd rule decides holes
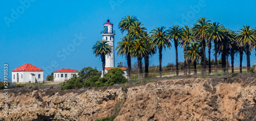
[[[95,120],[115,113],[118,115],[114,120],[256,120],[255,89],[255,74],[77,90],[56,86],[15,88],[9,90],[8,117],[1,108],[0,118]],[[4,95],[4,90],[0,93]],[[4,99],[0,96],[1,102]]]

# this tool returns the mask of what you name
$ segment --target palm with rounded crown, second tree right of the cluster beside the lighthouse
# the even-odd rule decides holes
[[[173,26],[168,30],[168,38],[174,40],[175,52],[176,52],[176,75],[179,75],[179,62],[178,62],[178,44],[183,38],[183,31],[180,26]]]

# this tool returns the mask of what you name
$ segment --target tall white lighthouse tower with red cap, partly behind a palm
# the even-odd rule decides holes
[[[115,67],[115,52],[114,52],[114,36],[115,30],[113,30],[113,23],[108,21],[104,23],[104,29],[101,31],[102,40],[108,41],[108,43],[113,46],[112,53],[110,56],[106,56],[106,65],[105,67]]]

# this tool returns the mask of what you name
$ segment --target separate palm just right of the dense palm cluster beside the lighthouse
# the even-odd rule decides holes
[[[166,31],[164,30],[165,27],[156,28],[151,31],[152,35],[152,46],[151,49],[158,49],[159,53],[159,71],[160,71],[160,78],[162,77],[162,50],[165,47],[169,48],[172,45],[170,44],[169,40],[166,39]]]

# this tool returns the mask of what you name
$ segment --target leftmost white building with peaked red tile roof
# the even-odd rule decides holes
[[[34,65],[26,63],[12,70],[13,83],[44,81],[44,71]]]

